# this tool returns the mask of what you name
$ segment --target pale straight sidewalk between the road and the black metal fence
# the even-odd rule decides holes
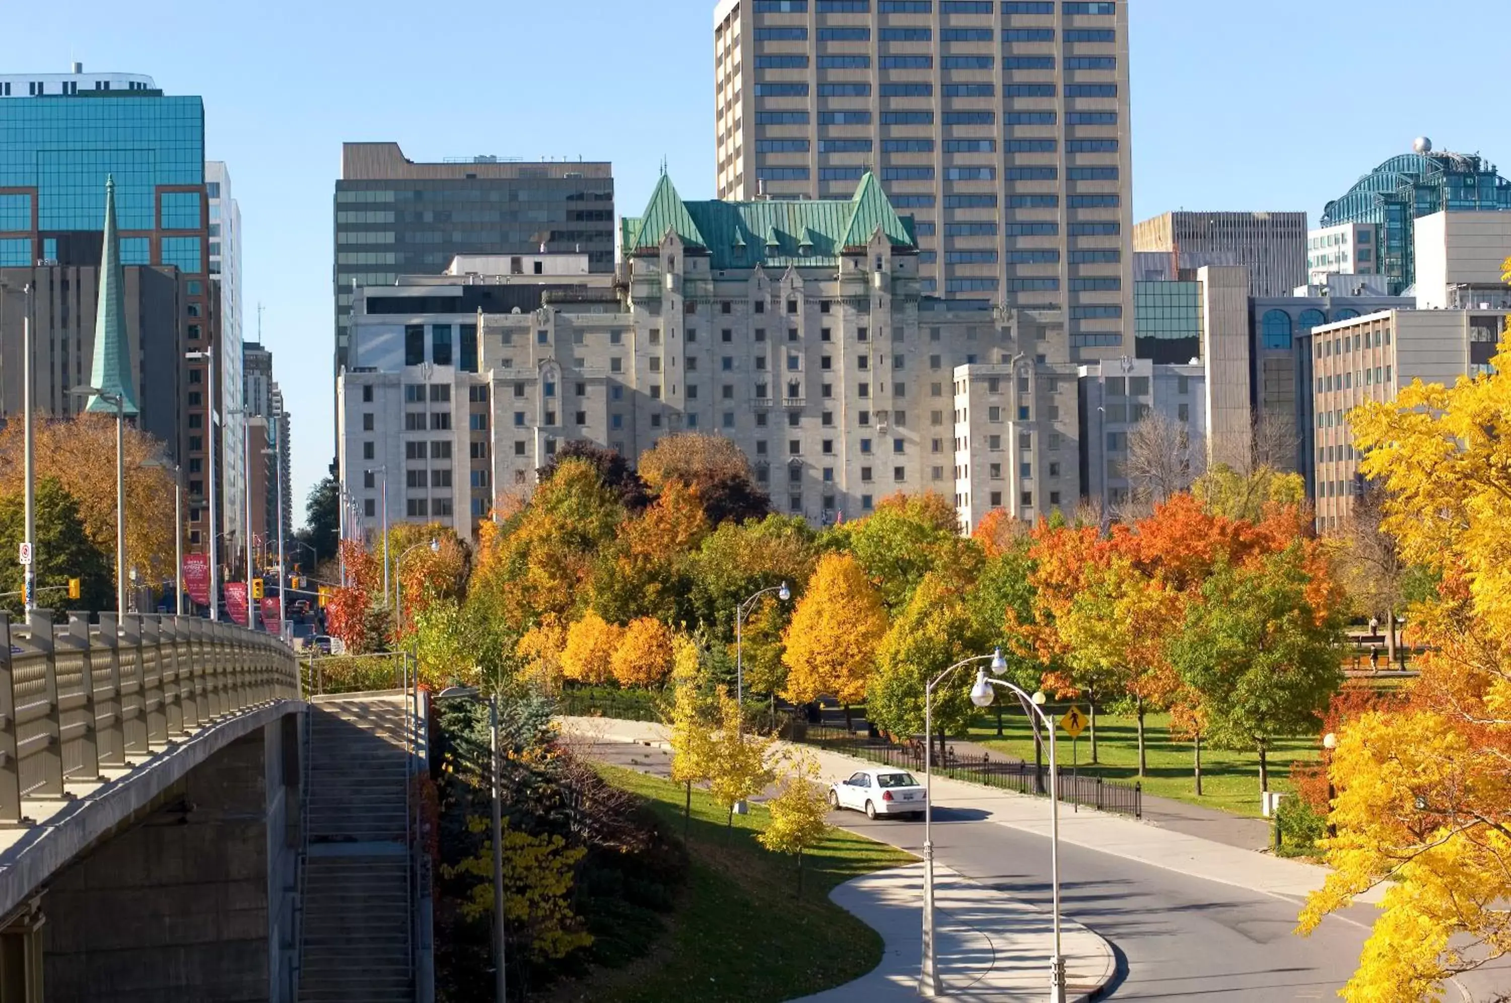
[[[561,722],[564,731],[576,734],[580,740],[641,742],[653,748],[666,742],[666,728],[659,724],[607,718],[562,718]],[[814,754],[825,781],[849,776],[857,764],[875,766],[848,755],[801,748]],[[1041,798],[935,776],[934,804],[940,808],[975,810],[996,825],[1046,838],[1050,834],[1047,802]],[[1321,888],[1328,875],[1325,867],[1316,864],[1268,856],[1088,808],[1073,811],[1070,805],[1061,805],[1059,838],[1151,867],[1293,899],[1306,897]],[[1360,896],[1360,902],[1378,902],[1383,894],[1384,888],[1375,888]]]

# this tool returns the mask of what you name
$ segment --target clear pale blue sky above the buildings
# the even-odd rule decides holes
[[[1502,18],[1404,0],[1132,0],[1135,219],[1322,205],[1417,134],[1511,169]],[[662,157],[713,189],[712,0],[101,0],[9,5],[0,73],[147,73],[205,100],[242,204],[257,304],[293,412],[295,497],[332,455],[331,192],[343,140],[414,159],[612,160],[636,213]],[[1503,32],[1499,32],[1503,35]],[[1499,124],[1497,124],[1499,122]]]

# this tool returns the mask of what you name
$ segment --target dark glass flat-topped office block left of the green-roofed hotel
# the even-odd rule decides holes
[[[425,163],[399,144],[343,144],[335,183],[335,373],[354,285],[440,275],[458,254],[580,252],[613,272],[613,169],[467,157]]]

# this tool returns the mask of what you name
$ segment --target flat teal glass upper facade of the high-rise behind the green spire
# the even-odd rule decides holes
[[[12,242],[29,240],[24,264],[30,264],[48,239],[98,233],[106,177],[115,178],[127,263],[204,270],[204,103],[156,92],[80,91],[0,101],[0,240],[6,242],[0,254],[9,263],[20,248]],[[165,190],[184,187],[199,190]],[[139,236],[160,231],[196,233],[196,248],[169,251],[168,239]],[[65,257],[88,246],[60,243]]]

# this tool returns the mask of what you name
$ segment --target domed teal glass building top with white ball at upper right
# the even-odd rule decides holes
[[[1511,210],[1511,181],[1478,154],[1408,153],[1392,157],[1322,210],[1322,227],[1375,224],[1375,270],[1390,292],[1416,282],[1416,221],[1432,213]]]

